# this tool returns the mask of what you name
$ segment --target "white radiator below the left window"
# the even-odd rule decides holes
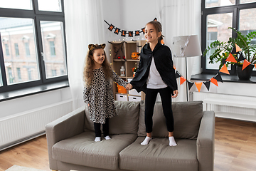
[[[44,106],[0,118],[0,151],[46,133],[46,125],[73,110],[73,101]]]

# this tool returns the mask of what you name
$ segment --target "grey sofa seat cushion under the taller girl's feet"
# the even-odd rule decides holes
[[[153,138],[149,145],[140,145],[144,137],[120,152],[120,169],[124,170],[198,170],[196,140],[176,139],[170,147],[168,138]]]

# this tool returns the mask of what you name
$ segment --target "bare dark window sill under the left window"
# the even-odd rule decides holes
[[[58,90],[60,88],[69,87],[68,81],[61,81],[58,83],[51,83],[42,86],[35,86],[33,88],[24,88],[22,90],[14,90],[6,93],[0,93],[0,102],[5,100],[11,100],[14,98],[22,98],[28,95],[35,95],[38,93],[45,93],[51,90]]]

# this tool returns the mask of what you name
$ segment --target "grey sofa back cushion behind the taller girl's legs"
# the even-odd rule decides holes
[[[174,114],[174,137],[196,139],[198,135],[201,118],[203,116],[203,102],[174,102],[172,103]],[[139,136],[146,136],[144,122],[145,103],[141,101],[139,111]],[[153,115],[154,137],[168,137],[166,120],[163,113],[161,102],[156,102]]]

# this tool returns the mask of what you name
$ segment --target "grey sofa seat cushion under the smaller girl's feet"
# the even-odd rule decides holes
[[[136,140],[136,134],[110,135],[95,142],[95,133],[84,132],[53,145],[53,158],[75,165],[117,170],[119,152]]]

